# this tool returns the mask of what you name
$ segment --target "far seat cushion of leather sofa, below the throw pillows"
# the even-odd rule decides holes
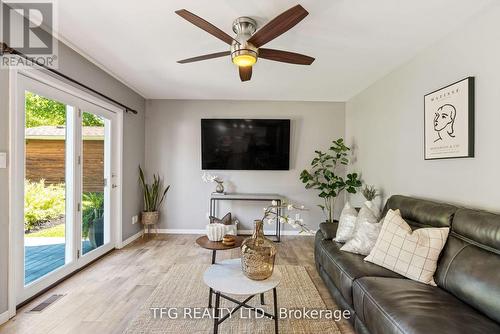
[[[340,250],[341,243],[320,241],[321,266],[331,278],[344,299],[352,303],[352,283],[355,279],[364,276],[402,277],[388,269],[363,260],[364,256]]]

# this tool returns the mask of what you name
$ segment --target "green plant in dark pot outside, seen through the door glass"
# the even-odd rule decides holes
[[[104,194],[88,192],[83,194],[82,234],[95,249],[104,244]]]

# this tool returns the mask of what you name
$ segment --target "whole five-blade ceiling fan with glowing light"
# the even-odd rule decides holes
[[[175,13],[198,28],[231,45],[230,51],[179,60],[178,63],[180,64],[230,55],[233,63],[239,68],[241,81],[248,81],[252,78],[252,66],[257,62],[257,58],[297,65],[311,65],[314,61],[314,58],[300,53],[262,48],[264,44],[293,28],[309,14],[301,5],[281,13],[257,32],[255,32],[257,30],[255,20],[245,16],[239,17],[233,22],[233,31],[236,33],[234,38],[185,9],[180,9]]]

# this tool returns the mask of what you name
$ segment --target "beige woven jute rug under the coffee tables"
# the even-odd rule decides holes
[[[199,264],[173,265],[130,322],[125,333],[212,333],[213,313],[212,309],[207,308],[208,287],[203,282],[203,273],[207,267],[208,265]],[[280,317],[279,333],[340,334],[337,324],[331,317],[329,319],[328,316],[323,316],[321,319],[300,317],[300,312],[303,313],[304,310],[326,310],[326,305],[306,269],[288,265],[276,268],[283,275],[277,287],[278,310],[280,308],[285,311],[294,310],[297,316]],[[237,300],[245,298],[231,297]],[[265,294],[265,305],[260,305],[259,296],[255,296],[248,304],[273,314],[272,297],[272,291],[269,291]],[[213,300],[215,302],[215,296]],[[221,308],[233,307],[234,303],[221,298]],[[223,315],[227,314],[227,311],[221,312]],[[219,325],[219,333],[274,333],[274,321],[269,318],[257,319],[254,312],[240,309]]]

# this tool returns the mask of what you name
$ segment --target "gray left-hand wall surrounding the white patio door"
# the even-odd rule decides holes
[[[124,116],[123,148],[123,238],[137,233],[132,216],[141,211],[137,166],[144,164],[144,106],[140,95],[123,85],[64,44],[59,44],[59,70],[139,111]],[[0,151],[9,152],[8,72],[0,70]],[[9,152],[10,153],[10,152]],[[10,158],[10,156],[9,156]],[[0,313],[7,310],[8,269],[8,169],[0,169]],[[15,222],[22,224],[22,222]]]

